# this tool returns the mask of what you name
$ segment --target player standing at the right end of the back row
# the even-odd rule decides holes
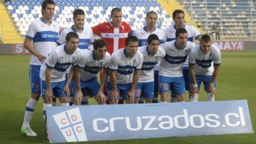
[[[187,25],[185,24],[185,14],[184,11],[182,10],[175,10],[172,13],[172,19],[173,22],[175,23],[174,26],[167,27],[165,31],[166,36],[167,36],[167,41],[173,41],[175,40],[175,32],[179,28],[184,28],[188,32],[188,41],[193,42],[193,39],[196,38],[200,40],[202,37],[202,34],[196,29],[196,27],[192,25]],[[183,65],[183,75],[185,79],[185,89],[189,90],[189,84],[188,84],[188,59],[185,61]],[[177,102],[176,100],[176,94],[173,93],[171,94],[171,102]]]

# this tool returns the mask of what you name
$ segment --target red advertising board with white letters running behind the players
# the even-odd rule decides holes
[[[256,41],[214,41],[221,51],[256,51]],[[0,54],[29,54],[23,44],[0,44]]]

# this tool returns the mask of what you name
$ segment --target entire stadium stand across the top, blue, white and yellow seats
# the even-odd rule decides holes
[[[173,24],[172,11],[175,9],[184,10],[185,8],[187,24],[196,26],[197,23],[200,23],[202,30],[205,30],[202,33],[208,33],[212,24],[221,22],[223,39],[256,37],[256,11],[254,10],[256,1],[251,0],[223,0],[221,5],[220,1],[215,0],[208,0],[207,3],[203,0],[159,0],[158,2],[156,0],[118,0],[118,2],[115,0],[70,0],[65,2],[56,0],[55,2],[56,15],[54,20],[62,27],[69,27],[73,24],[72,13],[77,8],[85,11],[85,24],[95,26],[96,24],[109,21],[111,9],[113,7],[120,7],[123,11],[123,21],[129,23],[132,29],[144,26],[145,14],[151,10],[159,14],[157,27],[165,29]],[[4,6],[0,8],[2,10]],[[22,36],[26,35],[29,24],[41,17],[41,1],[6,2],[5,9],[11,17],[11,19],[9,18],[10,22],[5,23],[5,25],[13,26],[12,30],[16,32],[16,34],[11,34],[11,36],[9,34],[8,36],[11,38],[15,37],[15,39],[19,39],[17,36],[20,34]],[[6,12],[0,13],[2,16],[2,13]],[[8,19],[8,14],[4,17]],[[2,22],[7,22],[7,20],[2,20]],[[3,26],[0,25],[0,27]],[[19,29],[18,32],[15,30],[15,27]],[[5,28],[5,31],[10,29]],[[2,33],[2,31],[0,29],[2,39],[8,39],[8,36]]]

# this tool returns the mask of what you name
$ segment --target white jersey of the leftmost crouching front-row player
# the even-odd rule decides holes
[[[66,52],[66,44],[59,45],[47,56],[44,64],[40,69],[40,78],[45,81],[45,69],[51,68],[51,82],[65,81],[66,69],[69,66],[77,65],[78,60],[82,56],[82,51],[77,48],[72,54]]]

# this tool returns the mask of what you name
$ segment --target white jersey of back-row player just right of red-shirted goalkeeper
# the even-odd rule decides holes
[[[160,43],[166,42],[166,34],[164,33],[164,30],[159,29],[158,27],[155,27],[154,31],[152,32],[159,36]],[[132,35],[136,36],[139,39],[139,47],[143,45],[147,45],[148,42],[148,36],[151,35],[152,33],[147,31],[146,26],[136,29],[133,31]]]

